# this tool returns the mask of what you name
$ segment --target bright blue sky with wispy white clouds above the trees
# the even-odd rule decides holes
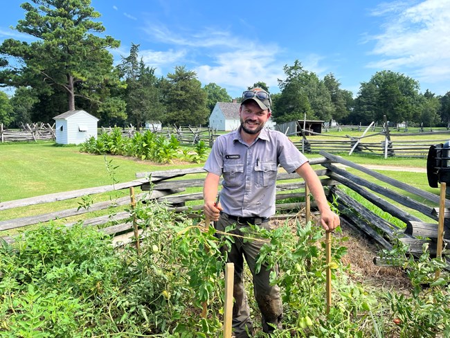
[[[24,18],[9,0],[0,12],[0,42],[30,42],[10,26]],[[140,44],[157,75],[175,66],[195,71],[233,97],[258,81],[278,92],[282,68],[299,60],[319,78],[333,73],[357,94],[361,82],[391,70],[444,95],[450,91],[450,0],[92,0],[105,34],[119,39],[117,62]]]

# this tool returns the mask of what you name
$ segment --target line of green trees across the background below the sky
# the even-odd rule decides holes
[[[102,37],[105,27],[90,0],[31,0],[22,3],[26,13],[15,26],[33,42],[5,39],[0,45],[0,86],[13,87],[8,97],[0,91],[0,123],[52,123],[53,116],[84,109],[100,118],[101,125],[141,127],[145,121],[163,125],[207,125],[217,102],[231,102],[225,88],[215,83],[202,87],[195,71],[174,66],[173,73],[158,77],[139,57],[139,44],[114,66],[111,48],[120,41]],[[368,125],[407,121],[409,125],[450,124],[450,91],[422,94],[417,80],[384,70],[361,82],[356,96],[341,89],[333,73],[322,79],[303,68],[299,60],[285,65],[279,92],[272,93],[273,120],[335,120],[341,124]],[[262,87],[270,92],[265,82]],[[240,97],[235,98],[240,102]]]

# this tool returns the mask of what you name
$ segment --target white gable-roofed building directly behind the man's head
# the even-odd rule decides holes
[[[239,107],[236,102],[218,102],[209,116],[209,126],[217,130],[229,132],[236,130],[240,125]],[[275,123],[269,118],[266,127],[273,129]]]

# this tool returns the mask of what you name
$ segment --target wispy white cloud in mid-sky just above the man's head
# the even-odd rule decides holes
[[[174,51],[177,48],[183,51],[171,55],[172,60],[156,52],[152,52],[152,57],[158,57],[161,63],[167,61],[165,64],[172,66],[188,63],[188,68],[197,73],[203,84],[215,82],[226,87],[231,96],[239,95],[242,88],[258,81],[266,82],[272,91],[276,91],[277,79],[284,75],[284,64],[276,60],[282,51],[273,43],[254,42],[211,28],[195,33],[174,33],[166,26],[147,25],[144,30],[150,39],[168,44]]]

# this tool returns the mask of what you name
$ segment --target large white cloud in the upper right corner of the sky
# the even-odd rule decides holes
[[[386,23],[383,33],[373,37],[377,43],[372,53],[383,59],[368,67],[407,70],[420,82],[450,80],[450,1],[398,1],[372,14],[386,17]]]

